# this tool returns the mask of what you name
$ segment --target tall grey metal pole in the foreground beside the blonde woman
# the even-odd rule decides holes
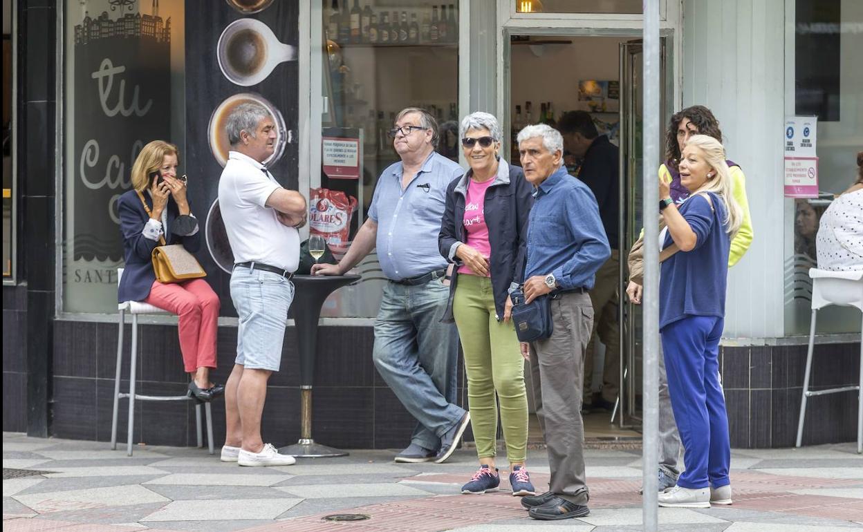
[[[644,529],[658,529],[659,460],[659,191],[656,169],[659,166],[659,0],[644,0],[644,221],[645,285],[644,302],[644,371],[642,404],[644,404],[643,454],[644,477],[642,516]]]

